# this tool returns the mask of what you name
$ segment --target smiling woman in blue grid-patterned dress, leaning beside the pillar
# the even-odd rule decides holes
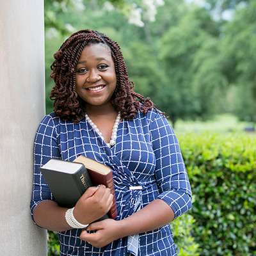
[[[191,188],[172,127],[132,90],[120,47],[108,36],[78,31],[54,58],[54,113],[35,138],[33,220],[58,231],[61,255],[176,255],[169,223],[191,208]],[[104,186],[88,189],[74,209],[54,201],[40,166],[79,154],[113,170],[116,220],[93,222],[112,204]]]

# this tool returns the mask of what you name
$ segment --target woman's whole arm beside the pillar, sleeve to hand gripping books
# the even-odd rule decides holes
[[[35,223],[54,231],[71,229],[65,220],[67,208],[59,207],[40,172],[40,166],[51,158],[61,158],[58,142],[58,117],[45,116],[36,132],[34,143],[34,180],[31,196],[31,216]],[[74,217],[82,224],[92,223],[110,209],[113,195],[105,186],[89,188],[77,201]]]

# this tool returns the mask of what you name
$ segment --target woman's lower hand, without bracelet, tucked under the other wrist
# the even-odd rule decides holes
[[[119,223],[120,221],[112,219],[92,223],[86,230],[81,232],[80,239],[87,241],[97,248],[106,246],[112,241],[125,236],[122,234],[124,230],[122,230]],[[95,230],[95,232],[88,233],[90,230]]]

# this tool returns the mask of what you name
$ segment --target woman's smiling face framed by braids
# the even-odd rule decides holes
[[[76,66],[76,92],[85,106],[107,106],[116,88],[115,63],[104,44],[84,47]]]

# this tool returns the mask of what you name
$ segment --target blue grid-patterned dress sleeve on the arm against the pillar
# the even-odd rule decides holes
[[[33,212],[36,205],[44,200],[54,200],[39,169],[51,158],[60,158],[60,150],[58,146],[56,126],[54,125],[52,116],[47,115],[36,131],[34,142],[34,178],[30,202],[30,211],[33,221]]]

